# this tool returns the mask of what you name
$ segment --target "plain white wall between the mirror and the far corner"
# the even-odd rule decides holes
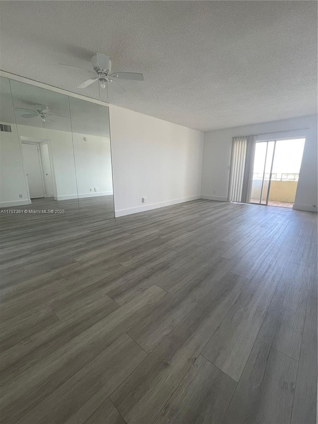
[[[109,107],[115,215],[200,198],[203,133]]]

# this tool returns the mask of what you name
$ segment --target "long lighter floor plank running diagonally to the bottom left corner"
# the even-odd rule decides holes
[[[98,321],[2,387],[1,417],[15,423],[148,314],[166,292],[157,286]],[[25,382],[28,382],[25,387]]]

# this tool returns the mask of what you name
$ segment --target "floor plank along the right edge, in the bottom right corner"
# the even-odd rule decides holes
[[[317,378],[317,299],[309,297],[298,365],[292,424],[316,424]]]

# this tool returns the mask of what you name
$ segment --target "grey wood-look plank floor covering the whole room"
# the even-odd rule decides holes
[[[317,214],[1,220],[3,424],[316,423]]]

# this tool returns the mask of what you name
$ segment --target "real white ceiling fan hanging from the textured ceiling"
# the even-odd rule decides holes
[[[135,72],[114,72],[111,73],[111,60],[108,55],[104,53],[96,52],[95,55],[91,57],[91,63],[93,66],[93,71],[85,71],[94,74],[94,77],[89,80],[84,81],[79,84],[77,88],[86,88],[88,85],[93,84],[95,81],[99,82],[99,87],[107,89],[107,97],[108,97],[108,86],[110,86],[114,91],[118,93],[123,93],[126,90],[122,87],[116,80],[134,80],[134,81],[144,81],[143,74],[137,74]],[[65,65],[60,63],[59,65],[69,66],[72,68],[78,68],[77,66]],[[83,69],[83,68],[78,68]]]

